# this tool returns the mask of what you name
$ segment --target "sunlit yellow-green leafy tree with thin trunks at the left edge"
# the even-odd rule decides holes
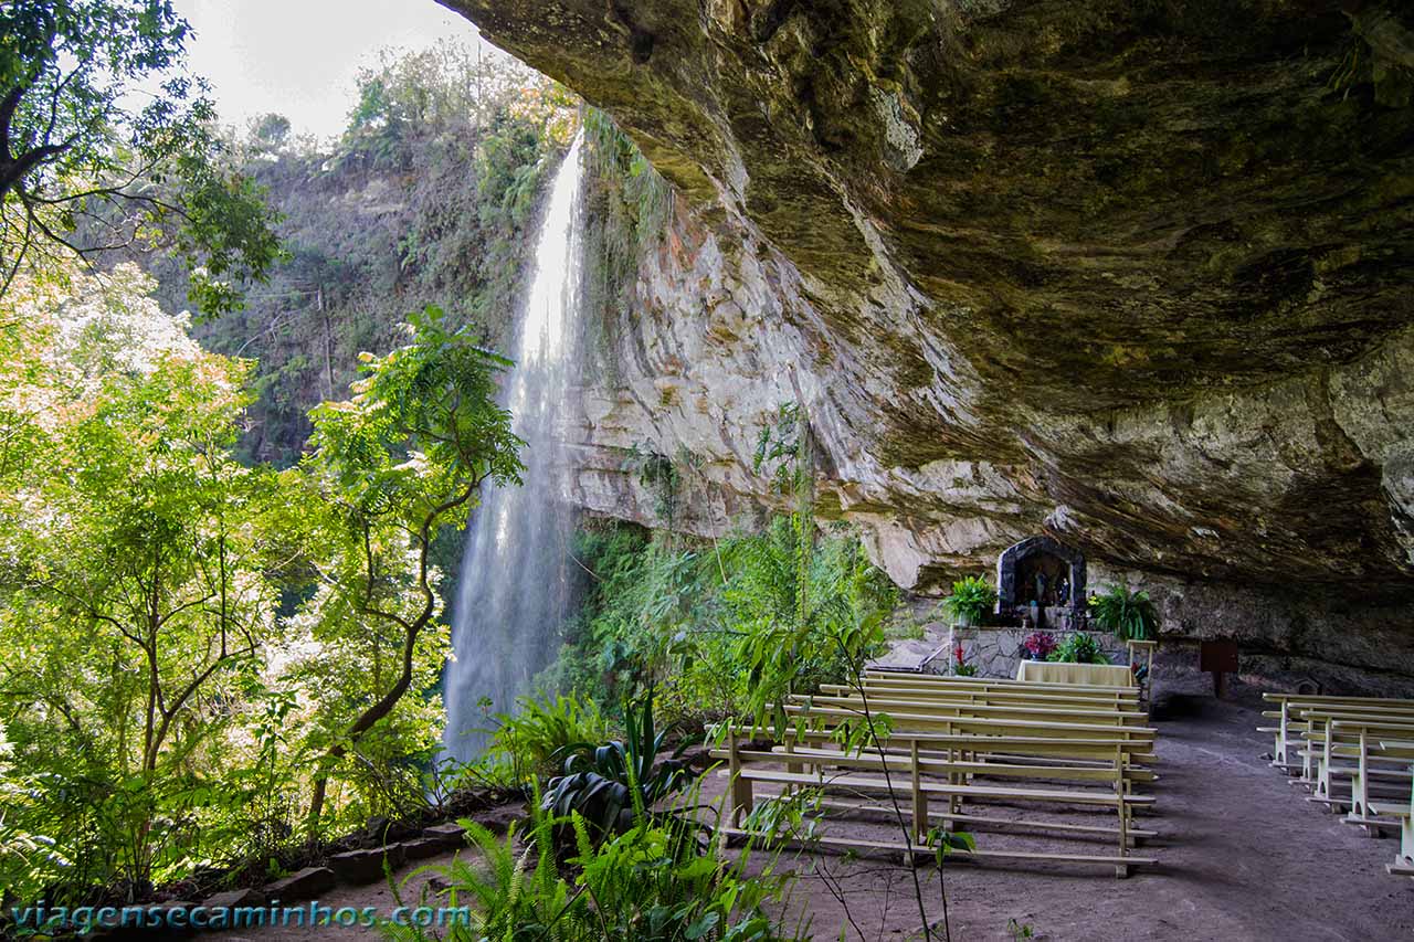
[[[99,857],[141,888],[276,627],[263,522],[287,501],[232,458],[249,364],[201,351],[130,266],[66,286],[16,291],[45,372],[7,416],[33,455],[0,504],[0,721],[62,870]]]

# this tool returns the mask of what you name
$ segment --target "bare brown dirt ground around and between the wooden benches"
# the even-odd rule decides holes
[[[1137,853],[1158,867],[1117,880],[1111,867],[949,864],[945,868],[954,941],[1011,939],[1008,921],[1053,941],[1182,942],[1414,938],[1414,880],[1391,877],[1394,840],[1373,840],[1342,823],[1273,769],[1271,741],[1256,733],[1251,703],[1174,697],[1155,709],[1159,730],[1152,786],[1158,803],[1138,826],[1158,832]],[[988,808],[988,813],[997,809]],[[997,813],[1005,815],[1005,809]],[[1079,819],[1077,819],[1079,820]],[[836,823],[834,836],[891,839],[888,825]],[[1042,850],[1034,839],[977,833],[978,849]],[[1070,843],[1072,850],[1076,849]],[[1089,853],[1110,853],[1096,844]],[[447,859],[443,859],[444,863]],[[438,863],[437,860],[430,863]],[[896,859],[788,856],[799,874],[792,912],[807,914],[819,939],[922,938],[913,871]],[[831,874],[844,901],[836,898]],[[937,873],[916,871],[929,921],[942,917]],[[411,891],[416,897],[416,890]],[[392,907],[386,887],[341,890],[322,904]],[[846,918],[846,908],[853,924]],[[356,929],[267,929],[225,934],[250,942],[335,941]],[[942,936],[937,936],[942,938]]]

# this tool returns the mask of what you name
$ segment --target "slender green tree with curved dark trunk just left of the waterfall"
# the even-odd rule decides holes
[[[363,378],[345,402],[314,410],[304,471],[338,522],[324,583],[352,612],[351,629],[389,628],[399,645],[392,679],[376,686],[325,751],[315,772],[310,827],[320,823],[328,777],[352,747],[413,689],[419,642],[437,614],[431,545],[464,526],[485,481],[519,484],[523,444],[496,405],[509,361],[447,331],[438,308],[410,318],[410,342],[363,354]]]

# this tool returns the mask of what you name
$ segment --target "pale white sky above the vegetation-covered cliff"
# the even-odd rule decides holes
[[[174,0],[191,23],[191,72],[211,82],[223,124],[276,112],[294,133],[337,136],[359,66],[378,50],[441,38],[481,41],[471,20],[433,0]],[[491,48],[491,47],[486,47]]]

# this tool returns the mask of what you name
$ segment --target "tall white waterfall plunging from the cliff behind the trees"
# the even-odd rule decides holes
[[[485,700],[510,710],[559,649],[573,584],[564,504],[567,468],[560,436],[575,354],[580,307],[583,132],[556,171],[536,242],[534,272],[508,378],[506,407],[526,441],[522,487],[482,494],[472,512],[452,605],[452,651],[444,690],[447,751],[481,754]]]

